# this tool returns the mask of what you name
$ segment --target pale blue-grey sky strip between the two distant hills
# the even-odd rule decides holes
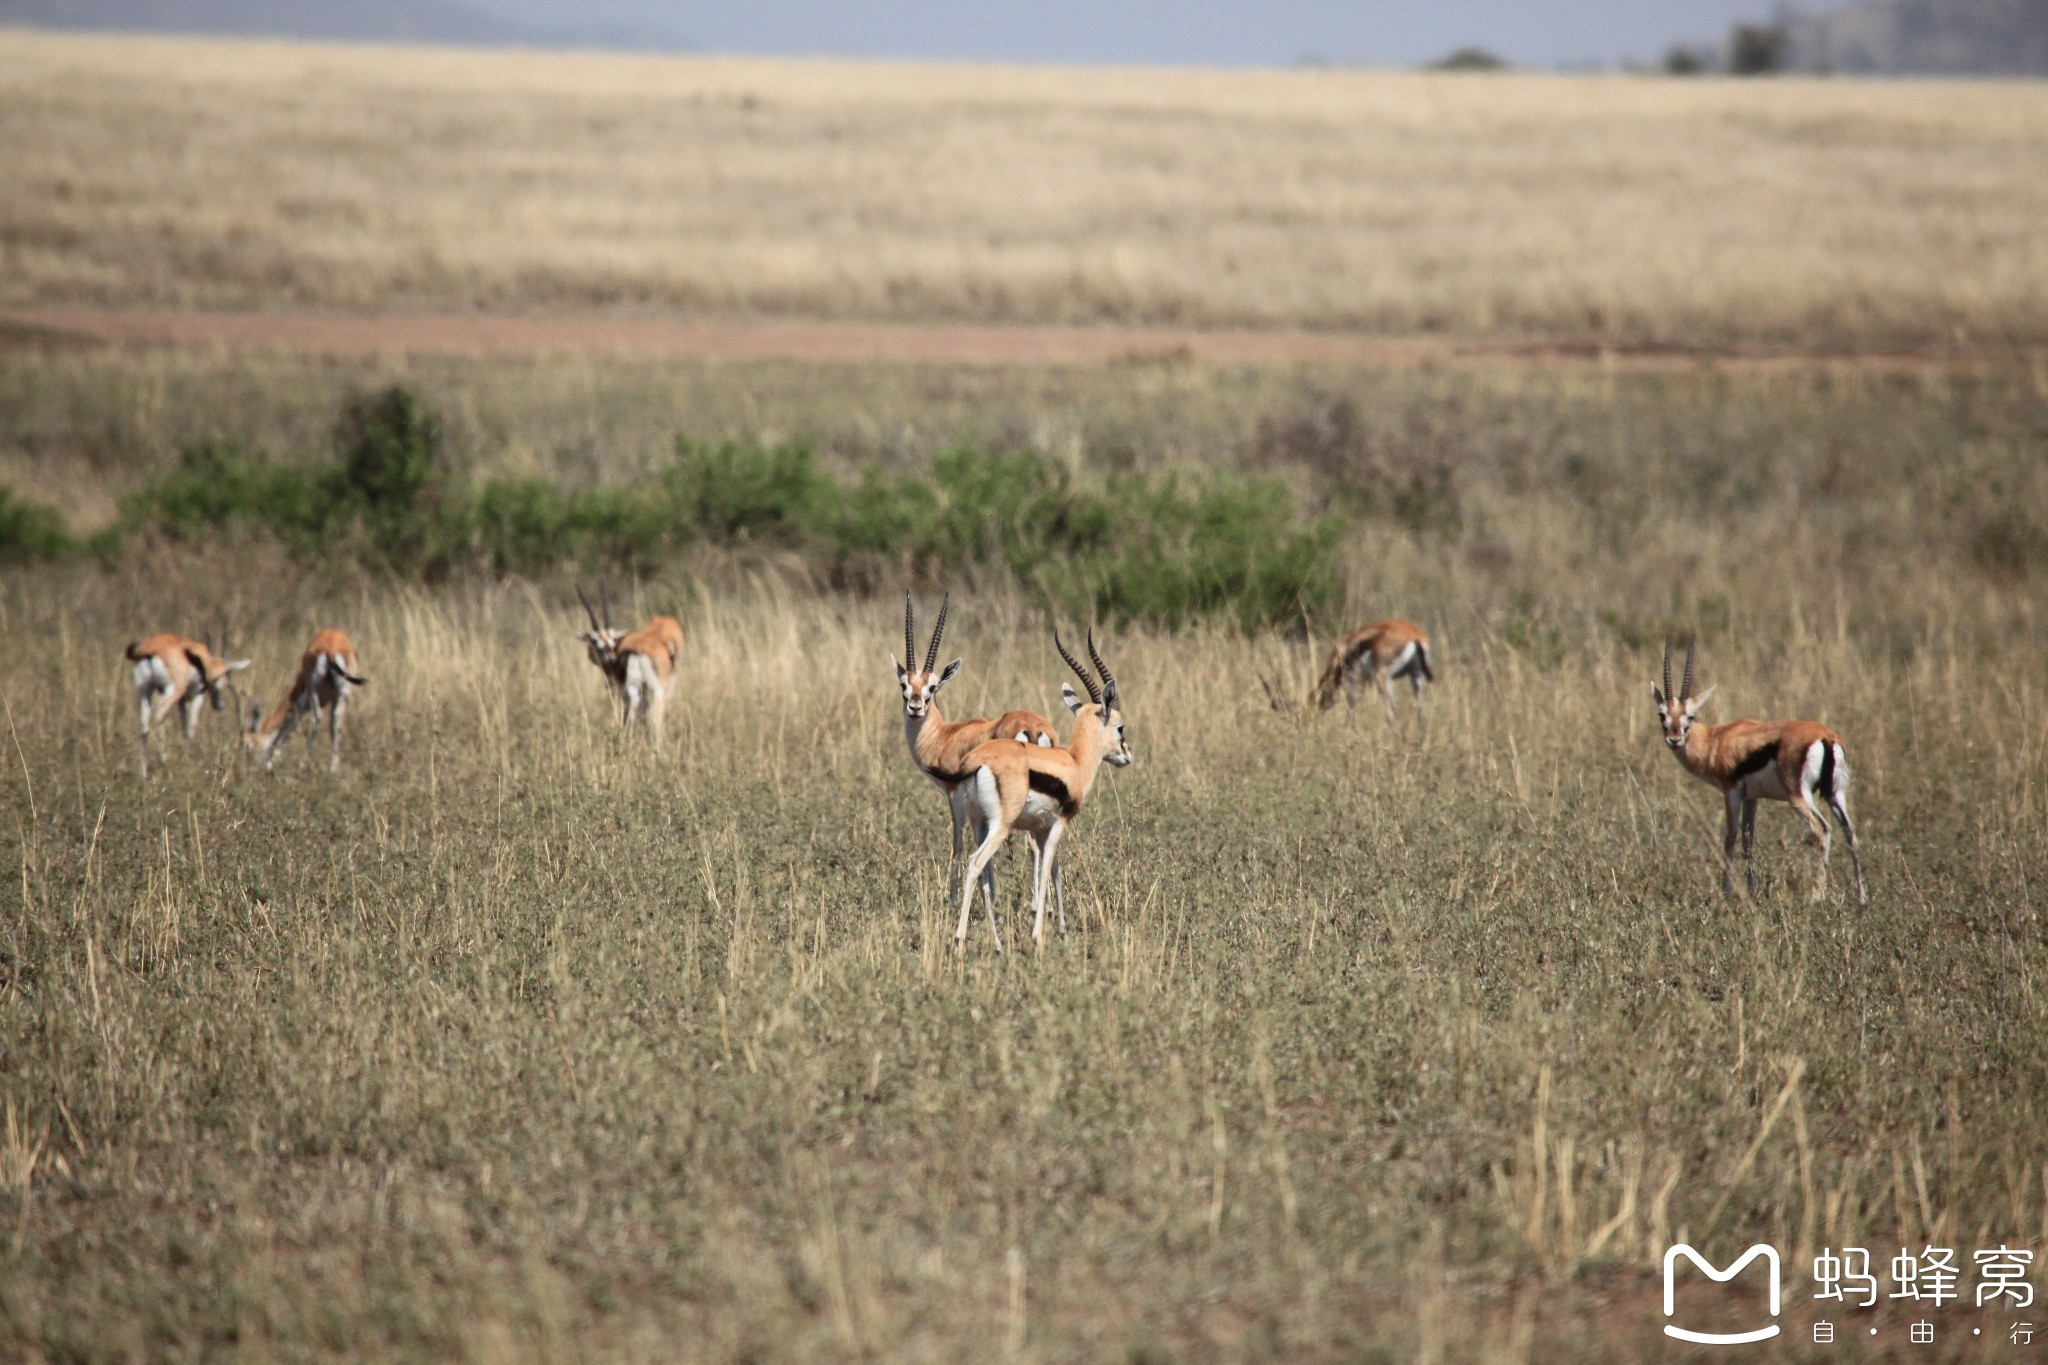
[[[1130,65],[1419,65],[1479,45],[1522,65],[1655,59],[1769,0],[467,0],[547,29],[696,51]],[[1815,8],[1831,8],[1827,4]]]

